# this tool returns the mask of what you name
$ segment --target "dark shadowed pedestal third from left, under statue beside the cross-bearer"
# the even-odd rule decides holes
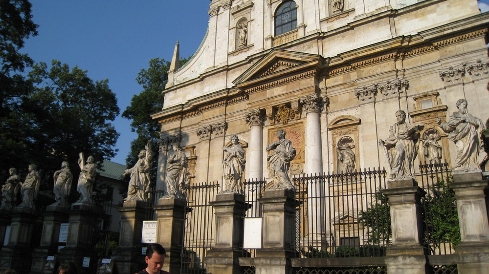
[[[64,208],[47,208],[44,212],[43,232],[39,247],[32,254],[31,274],[41,273],[47,256],[58,253],[58,240],[62,223],[68,221],[68,215]]]

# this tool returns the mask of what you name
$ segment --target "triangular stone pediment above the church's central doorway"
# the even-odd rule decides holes
[[[294,68],[303,69],[307,64],[323,63],[324,59],[317,54],[273,49],[236,78],[233,83],[240,85],[253,80],[278,77],[280,72],[292,72]]]

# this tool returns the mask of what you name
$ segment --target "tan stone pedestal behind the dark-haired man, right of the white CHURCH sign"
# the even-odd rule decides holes
[[[153,208],[158,220],[156,242],[165,248],[167,254],[163,270],[171,274],[180,274],[187,201],[161,198],[158,205]]]

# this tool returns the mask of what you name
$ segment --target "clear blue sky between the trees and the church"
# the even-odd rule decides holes
[[[179,40],[180,57],[192,55],[207,29],[209,0],[31,0],[39,35],[22,52],[35,62],[52,59],[88,70],[93,80],[109,79],[121,113],[142,87],[137,73],[156,57],[171,61]],[[479,1],[483,12],[489,0]],[[114,122],[121,134],[117,155],[125,164],[136,137],[122,117]]]

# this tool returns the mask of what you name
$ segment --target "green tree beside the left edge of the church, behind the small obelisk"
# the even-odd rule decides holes
[[[180,65],[187,63],[189,58],[180,59]],[[160,126],[151,119],[150,114],[160,111],[163,107],[162,91],[168,82],[170,62],[155,58],[149,62],[148,69],[139,71],[136,81],[142,85],[143,91],[131,99],[131,105],[122,113],[122,117],[132,120],[131,130],[137,133],[137,138],[131,142],[131,151],[126,157],[126,164],[132,167],[137,162],[139,151],[144,148],[149,139],[153,140],[153,150],[157,150]],[[150,171],[151,181],[156,180],[157,154],[153,158]]]

